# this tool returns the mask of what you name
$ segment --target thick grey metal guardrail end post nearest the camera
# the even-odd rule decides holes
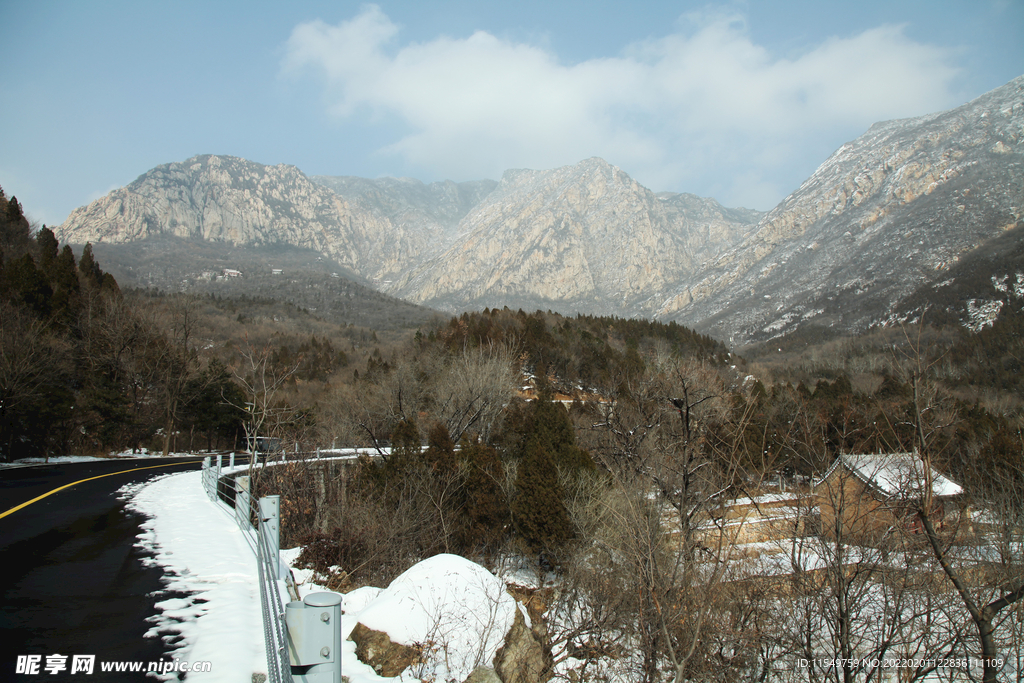
[[[341,683],[341,595],[310,593],[285,607],[288,657],[298,683]]]

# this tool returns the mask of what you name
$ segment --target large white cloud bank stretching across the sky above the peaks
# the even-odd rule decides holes
[[[600,156],[654,189],[719,187],[718,199],[760,208],[795,187],[773,183],[802,141],[820,146],[878,120],[946,108],[956,74],[950,51],[899,26],[783,58],[754,43],[741,16],[707,16],[690,32],[579,63],[485,32],[408,44],[399,36],[370,5],[338,26],[297,26],[283,68],[318,72],[338,116],[398,117],[406,130],[381,152],[436,176]]]

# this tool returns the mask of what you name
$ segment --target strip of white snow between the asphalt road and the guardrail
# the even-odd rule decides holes
[[[254,672],[265,673],[256,558],[234,520],[207,498],[202,472],[166,474],[119,493],[148,517],[136,545],[153,553],[148,563],[164,567],[165,590],[186,596],[158,602],[146,635],[170,640],[180,633],[172,658],[212,664],[211,673],[189,673],[189,682],[251,683]]]

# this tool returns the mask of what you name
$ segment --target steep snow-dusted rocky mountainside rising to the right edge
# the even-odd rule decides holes
[[[862,330],[1022,220],[1024,77],[949,112],[872,126],[659,317],[735,342]]]

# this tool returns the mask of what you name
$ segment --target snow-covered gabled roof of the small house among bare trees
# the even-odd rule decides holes
[[[844,453],[814,485],[824,481],[841,463],[858,479],[886,498],[915,498],[925,486],[925,464],[916,453]],[[934,467],[931,468],[931,474],[933,496],[947,497],[963,493],[964,488],[958,483]]]

